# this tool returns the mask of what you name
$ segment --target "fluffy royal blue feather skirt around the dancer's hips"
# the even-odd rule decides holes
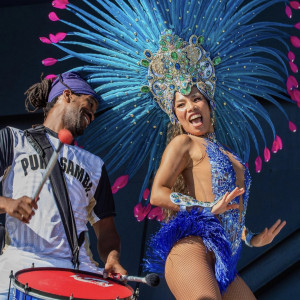
[[[214,252],[215,276],[221,293],[224,292],[236,275],[237,259],[232,257],[231,244],[219,220],[205,210],[179,212],[168,223],[163,223],[149,242],[144,269],[163,275],[174,244],[188,236],[201,237],[205,247]]]

